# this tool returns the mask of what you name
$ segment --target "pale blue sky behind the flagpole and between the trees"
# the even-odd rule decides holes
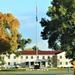
[[[0,0],[0,11],[2,13],[11,13],[20,22],[19,33],[23,38],[32,39],[32,43],[26,48],[32,48],[36,45],[36,1],[38,8],[37,23],[37,46],[41,50],[49,50],[48,43],[41,38],[42,27],[41,18],[48,18],[46,12],[50,6],[51,0]]]

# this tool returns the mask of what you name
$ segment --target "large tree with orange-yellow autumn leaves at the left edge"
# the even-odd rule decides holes
[[[17,52],[18,27],[19,21],[12,14],[0,12],[0,52]]]

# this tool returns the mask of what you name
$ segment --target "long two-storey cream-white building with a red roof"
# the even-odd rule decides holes
[[[52,67],[52,63],[48,63],[48,59],[57,56],[57,67],[71,67],[70,59],[65,58],[65,52],[62,51],[20,51],[21,55],[16,57],[15,54],[5,56],[6,67],[12,67],[19,64],[21,67],[34,68],[36,62],[39,67]]]

